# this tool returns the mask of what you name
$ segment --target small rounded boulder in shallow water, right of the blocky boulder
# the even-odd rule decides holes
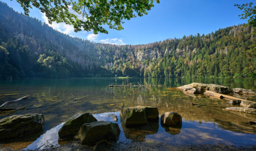
[[[176,112],[166,112],[161,116],[161,124],[164,126],[176,126],[182,123],[182,117]]]

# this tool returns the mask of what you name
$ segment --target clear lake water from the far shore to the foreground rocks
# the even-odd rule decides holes
[[[128,79],[129,83],[159,85],[159,79]],[[30,94],[29,99],[12,103],[6,107],[26,110],[0,114],[0,118],[14,114],[40,113],[45,116],[43,134],[0,141],[6,146],[16,144],[21,148],[35,149],[46,143],[58,143],[58,129],[61,124],[76,113],[91,112],[97,120],[111,121],[108,114],[118,116],[121,129],[118,141],[154,140],[168,144],[225,143],[229,145],[254,144],[256,126],[248,125],[256,121],[256,115],[223,111],[230,107],[224,100],[204,95],[186,95],[174,88],[192,82],[220,84],[231,88],[246,88],[256,91],[255,79],[161,79],[165,87],[108,87],[121,85],[126,79],[85,78],[85,79],[26,79],[0,81],[0,104]],[[10,95],[6,95],[10,94]],[[14,94],[14,95],[11,95]],[[248,96],[239,96],[248,97]],[[250,97],[256,101],[256,97]],[[188,104],[190,102],[199,105]],[[164,128],[160,122],[138,129],[126,129],[120,123],[120,109],[130,106],[157,106],[159,114],[178,112],[182,116],[182,127]],[[22,144],[22,145],[21,145]],[[42,146],[43,147],[43,146]],[[41,147],[41,148],[42,148]]]

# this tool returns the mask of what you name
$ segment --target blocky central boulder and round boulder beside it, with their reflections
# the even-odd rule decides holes
[[[121,125],[126,138],[142,141],[145,135],[158,132],[159,112],[157,107],[135,106],[121,109]],[[161,115],[161,126],[171,135],[180,133],[182,127],[181,116],[176,112]]]

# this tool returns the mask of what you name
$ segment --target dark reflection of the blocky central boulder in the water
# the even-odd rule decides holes
[[[124,135],[127,139],[134,141],[144,141],[146,135],[152,135],[158,132],[159,121],[148,121],[147,125],[142,125],[136,128],[126,128],[122,124]]]

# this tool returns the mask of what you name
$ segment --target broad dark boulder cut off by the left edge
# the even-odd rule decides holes
[[[0,120],[0,139],[15,138],[42,131],[42,114],[13,115]]]

